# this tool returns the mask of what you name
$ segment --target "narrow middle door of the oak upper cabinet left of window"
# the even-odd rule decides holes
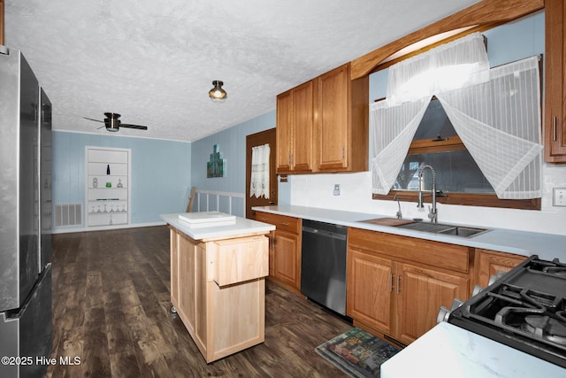
[[[314,82],[307,81],[293,89],[293,159],[294,172],[312,171]]]

